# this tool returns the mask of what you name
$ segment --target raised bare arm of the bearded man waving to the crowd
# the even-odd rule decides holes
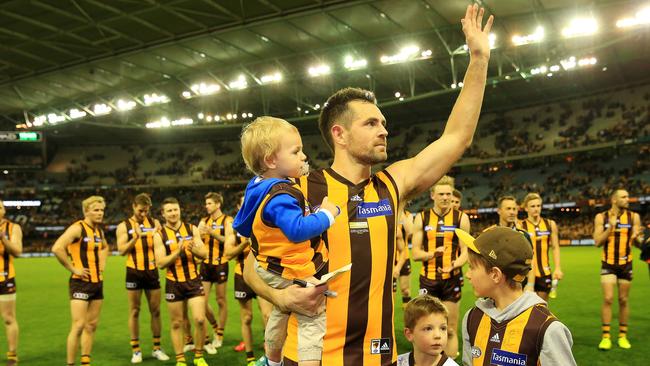
[[[463,33],[469,47],[470,62],[463,79],[463,88],[447,120],[440,138],[415,157],[396,162],[387,168],[395,179],[402,198],[414,197],[425,191],[442,177],[463,155],[474,136],[483,104],[487,81],[492,28],[490,16],[482,27],[484,9],[468,6],[461,20]]]

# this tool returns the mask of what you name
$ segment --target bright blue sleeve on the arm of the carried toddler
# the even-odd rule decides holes
[[[282,230],[289,241],[300,243],[322,234],[330,227],[325,212],[304,216],[298,200],[289,194],[271,198],[262,211],[264,220]]]

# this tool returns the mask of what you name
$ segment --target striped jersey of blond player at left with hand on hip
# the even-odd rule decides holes
[[[84,220],[79,220],[72,225],[81,226],[81,236],[68,245],[68,256],[74,268],[87,268],[90,271],[88,279],[75,274],[72,275],[72,278],[93,283],[102,282],[103,276],[99,270],[99,253],[104,248],[104,230],[99,227],[93,228]]]

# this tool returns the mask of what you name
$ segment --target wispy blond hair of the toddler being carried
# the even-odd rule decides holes
[[[287,131],[298,132],[296,126],[275,117],[257,117],[244,126],[241,134],[241,154],[248,170],[256,175],[266,171],[265,160],[280,148],[280,138]]]

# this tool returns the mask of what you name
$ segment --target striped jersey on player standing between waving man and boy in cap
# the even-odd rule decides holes
[[[446,280],[451,278],[452,273],[439,271],[442,268],[451,267],[452,262],[460,255],[458,236],[454,231],[460,228],[460,219],[463,213],[450,209],[443,216],[438,216],[433,208],[420,212],[422,217],[422,250],[434,252],[437,248],[443,247],[441,256],[424,261],[420,276],[430,280]]]

